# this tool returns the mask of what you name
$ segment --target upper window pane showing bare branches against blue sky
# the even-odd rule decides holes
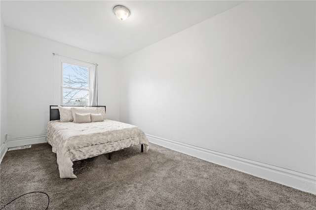
[[[64,87],[88,88],[88,68],[64,64]]]

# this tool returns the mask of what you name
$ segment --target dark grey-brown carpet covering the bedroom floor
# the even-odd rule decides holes
[[[2,208],[32,191],[48,210],[315,210],[316,196],[151,144],[74,162],[77,179],[60,179],[47,143],[9,151],[0,165]],[[45,194],[3,210],[44,210]]]

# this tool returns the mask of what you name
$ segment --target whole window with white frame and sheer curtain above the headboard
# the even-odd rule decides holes
[[[54,54],[54,65],[55,104],[97,105],[97,64]]]

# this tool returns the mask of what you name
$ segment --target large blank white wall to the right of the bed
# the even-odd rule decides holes
[[[247,1],[121,59],[120,120],[307,175],[316,193],[315,15],[315,1]]]

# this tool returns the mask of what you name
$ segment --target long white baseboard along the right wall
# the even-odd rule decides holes
[[[316,195],[316,176],[146,134],[160,146]]]

